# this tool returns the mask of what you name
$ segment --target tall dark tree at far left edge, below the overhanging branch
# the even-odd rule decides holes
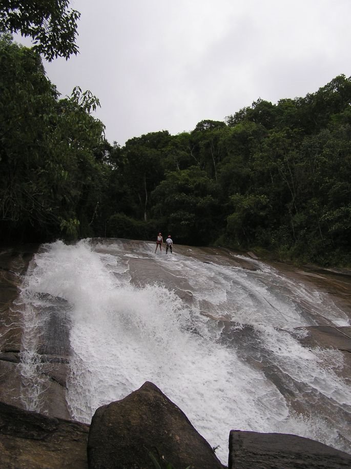
[[[40,57],[12,44],[9,36],[0,39],[0,70],[0,219],[10,232],[20,225],[57,221],[45,187],[45,174],[53,175],[53,166],[45,163],[45,129],[57,92],[45,77]]]

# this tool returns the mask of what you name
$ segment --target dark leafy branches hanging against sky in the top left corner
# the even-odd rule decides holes
[[[75,44],[80,13],[68,9],[69,0],[2,0],[0,32],[31,37],[33,49],[51,62],[77,54]]]

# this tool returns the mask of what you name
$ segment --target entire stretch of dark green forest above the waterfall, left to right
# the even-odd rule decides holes
[[[18,45],[9,24],[0,35],[2,243],[161,231],[175,244],[351,266],[351,77],[120,147],[92,115],[97,97],[76,87],[63,98],[47,78],[40,54],[53,59],[56,46]]]

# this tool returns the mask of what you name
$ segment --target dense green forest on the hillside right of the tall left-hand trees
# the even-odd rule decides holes
[[[133,138],[119,152],[116,206],[128,208],[118,211],[151,217],[176,242],[350,265],[350,103],[340,75],[304,98],[259,99],[226,123]]]

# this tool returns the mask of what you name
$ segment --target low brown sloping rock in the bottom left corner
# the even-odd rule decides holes
[[[2,469],[86,469],[89,425],[0,402]]]

